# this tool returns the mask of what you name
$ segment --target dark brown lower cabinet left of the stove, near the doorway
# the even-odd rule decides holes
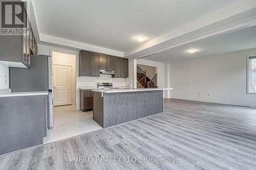
[[[93,93],[92,90],[80,89],[80,110],[82,112],[93,110]]]

